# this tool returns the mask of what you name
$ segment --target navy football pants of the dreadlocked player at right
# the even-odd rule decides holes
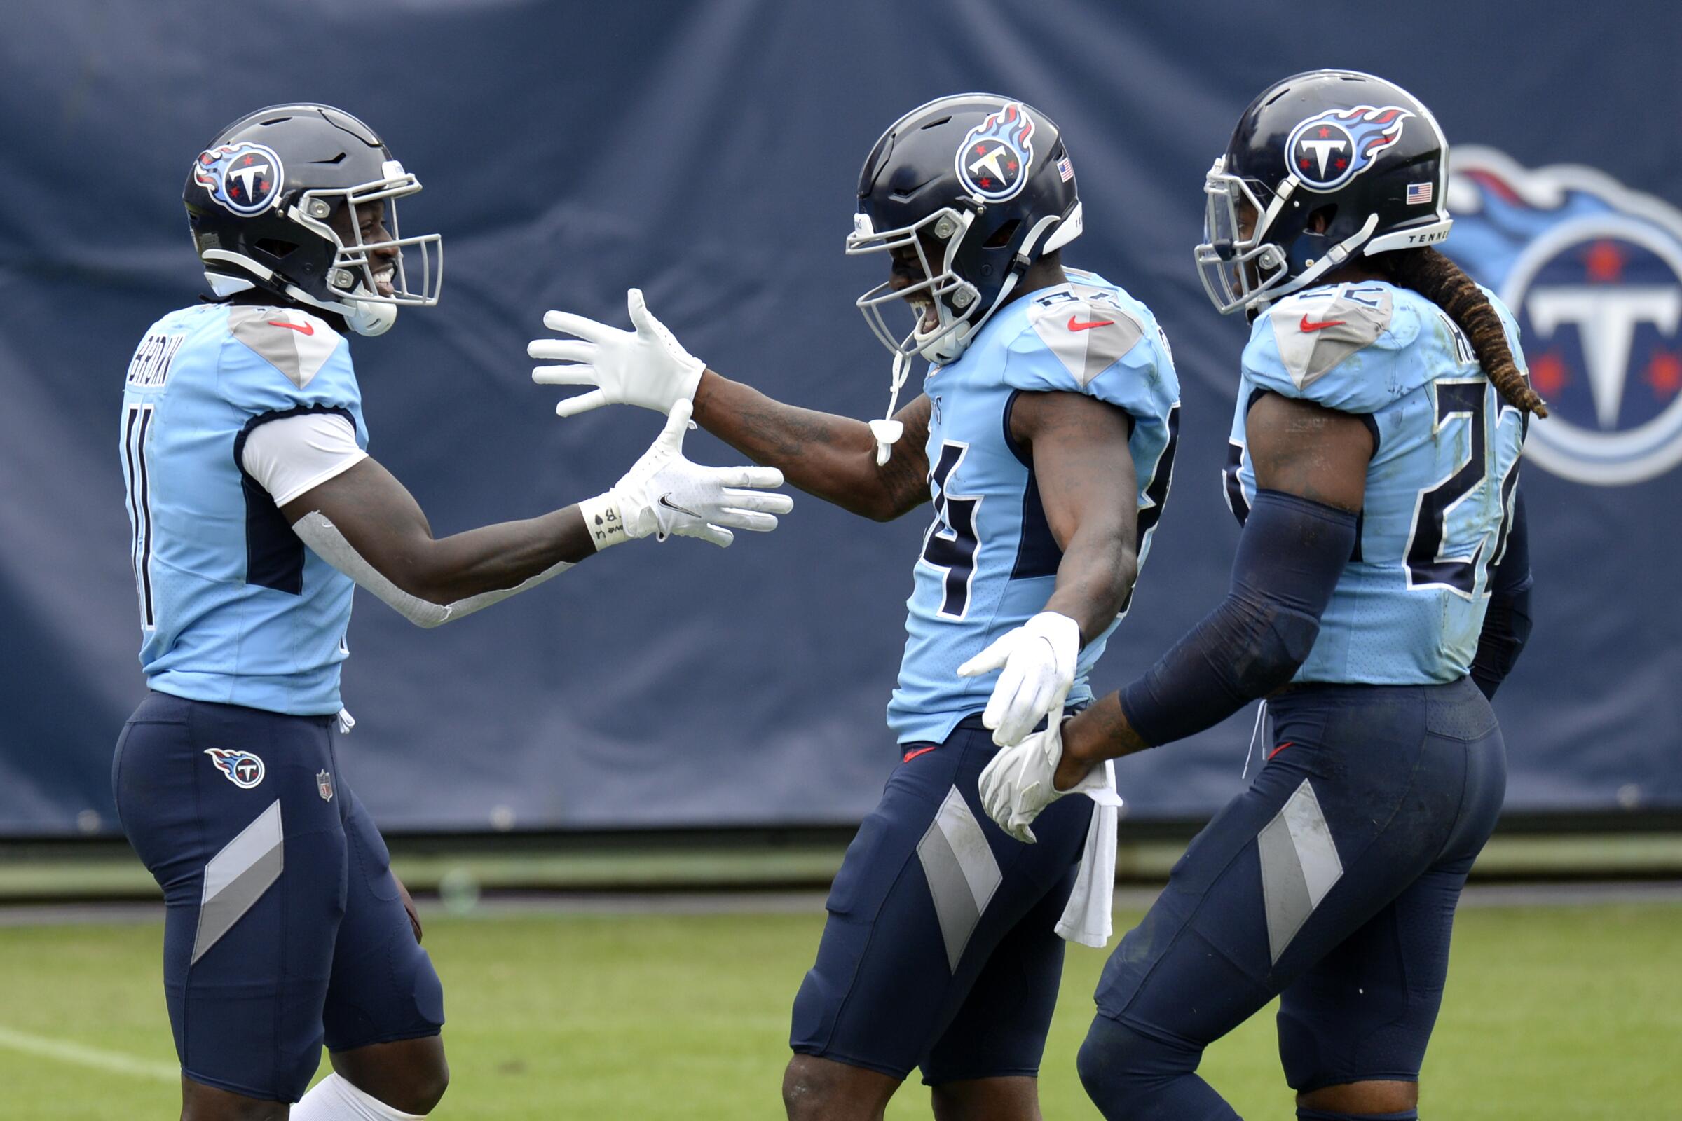
[[[1297,1091],[1418,1081],[1467,871],[1507,783],[1468,679],[1312,686],[1110,956],[1082,1081],[1105,1118],[1231,1119],[1203,1049],[1280,998]]]

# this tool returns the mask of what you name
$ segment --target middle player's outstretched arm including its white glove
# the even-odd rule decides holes
[[[540,385],[582,385],[587,393],[555,407],[574,417],[600,405],[641,405],[658,412],[693,402],[695,422],[759,464],[780,467],[787,481],[863,518],[891,521],[928,501],[928,398],[895,413],[905,434],[893,457],[876,466],[876,440],[863,420],[796,408],[732,382],[690,355],[631,289],[632,331],[584,316],[550,311],[543,326],[574,338],[533,339]]]

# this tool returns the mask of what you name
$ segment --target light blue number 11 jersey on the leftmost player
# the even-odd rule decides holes
[[[340,709],[353,585],[241,467],[247,432],[299,412],[345,415],[367,447],[350,348],[298,309],[185,308],[135,351],[119,452],[153,689],[271,713]]]

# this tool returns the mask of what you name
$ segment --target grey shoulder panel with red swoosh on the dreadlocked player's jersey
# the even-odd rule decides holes
[[[1273,333],[1280,363],[1299,390],[1359,350],[1399,350],[1418,334],[1418,316],[1396,314],[1388,284],[1337,284],[1288,296],[1268,308],[1251,338]]]

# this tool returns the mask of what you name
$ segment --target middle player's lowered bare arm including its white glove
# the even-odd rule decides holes
[[[1115,620],[1139,575],[1130,430],[1125,412],[1083,393],[1021,393],[1011,408],[1011,437],[1031,454],[1063,560],[1045,610],[957,671],[1001,671],[981,716],[999,746],[1019,743],[1061,711],[1080,649]]]

